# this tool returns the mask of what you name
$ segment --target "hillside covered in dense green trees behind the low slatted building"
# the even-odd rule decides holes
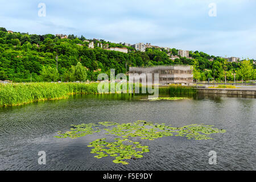
[[[84,40],[86,40],[84,36],[77,38],[74,35],[61,39],[52,34],[29,35],[20,32],[12,34],[5,28],[0,28],[0,80],[73,81],[76,78],[72,78],[72,70],[79,65],[86,67],[86,75],[79,80],[97,80],[99,73],[109,73],[110,68],[114,68],[117,74],[127,72],[130,66],[192,65],[192,59],[199,62],[201,77],[205,79],[212,74],[213,69],[220,70],[224,61],[220,57],[209,56],[198,51],[189,52],[192,59],[180,57],[172,60],[170,56],[177,55],[175,48],[170,49],[170,52],[159,48],[147,48],[146,52],[140,52],[132,47],[97,39],[90,40],[94,42],[94,48],[88,48],[89,43]],[[126,47],[129,53],[108,51],[97,47],[98,43],[102,43],[103,47],[107,44],[109,47]],[[209,61],[210,59],[213,61]],[[77,64],[79,62],[81,64]],[[234,71],[238,67],[240,63],[228,64],[229,71]],[[219,76],[222,77],[221,74]],[[218,77],[217,72],[216,77]]]

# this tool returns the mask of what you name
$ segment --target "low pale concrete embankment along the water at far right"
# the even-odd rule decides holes
[[[256,96],[256,88],[242,88],[242,89],[209,89],[196,88],[198,93],[212,93],[212,94],[232,94],[243,96]]]

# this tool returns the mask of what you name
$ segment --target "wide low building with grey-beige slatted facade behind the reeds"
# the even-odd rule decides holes
[[[170,65],[170,66],[156,66],[148,68],[130,67],[129,73],[152,73],[152,82],[154,82],[154,73],[159,74],[159,84],[171,83],[192,83],[193,82],[193,68],[190,65]],[[147,79],[146,79],[147,80]],[[140,79],[143,82],[143,79]]]

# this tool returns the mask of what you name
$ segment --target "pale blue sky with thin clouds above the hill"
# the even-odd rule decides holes
[[[256,0],[0,0],[0,27],[256,59]]]

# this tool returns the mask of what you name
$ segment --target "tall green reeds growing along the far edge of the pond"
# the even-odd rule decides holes
[[[23,105],[43,100],[68,98],[72,94],[96,94],[97,83],[26,83],[0,84],[0,106]],[[140,88],[141,90],[141,88]],[[191,96],[195,90],[187,86],[166,86],[159,88],[159,94],[170,97]]]

